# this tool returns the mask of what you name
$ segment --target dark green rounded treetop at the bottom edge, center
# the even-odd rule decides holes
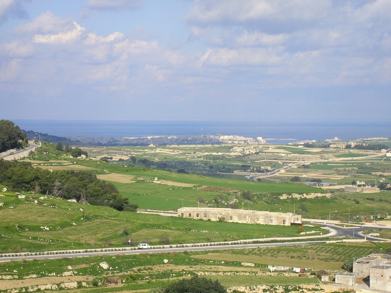
[[[172,283],[164,293],[227,293],[227,290],[217,280],[194,276]]]

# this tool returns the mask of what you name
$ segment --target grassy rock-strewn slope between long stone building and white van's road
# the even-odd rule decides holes
[[[300,236],[297,227],[220,223],[72,203],[13,192],[0,197],[0,252],[220,242]],[[307,229],[311,230],[311,229]],[[314,227],[312,230],[320,231]],[[315,233],[316,234],[319,234]]]

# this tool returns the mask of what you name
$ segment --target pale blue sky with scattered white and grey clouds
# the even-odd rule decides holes
[[[391,122],[390,0],[0,0],[0,119]]]

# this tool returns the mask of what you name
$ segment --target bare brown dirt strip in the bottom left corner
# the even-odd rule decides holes
[[[0,280],[1,290],[15,289],[21,287],[46,285],[46,284],[60,284],[63,282],[77,282],[87,281],[90,278],[88,276],[67,276],[67,277],[43,277],[43,278],[30,278],[30,279],[18,279],[18,280]]]

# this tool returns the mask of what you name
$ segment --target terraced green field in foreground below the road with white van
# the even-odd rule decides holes
[[[288,267],[307,266],[308,272],[319,269],[341,271],[341,265],[351,257],[368,255],[389,249],[384,244],[336,243],[305,247],[257,248],[227,251],[199,251],[178,253],[157,253],[139,255],[114,255],[88,258],[53,259],[37,261],[15,261],[0,263],[0,275],[17,276],[16,288],[27,284],[60,284],[62,281],[78,281],[91,284],[93,280],[104,281],[107,276],[121,276],[124,283],[119,287],[83,288],[83,292],[134,292],[163,287],[178,278],[200,274],[218,279],[224,286],[251,285],[296,285],[319,284],[320,280],[299,278],[297,274],[270,273],[267,265]],[[244,263],[243,263],[244,262]],[[100,264],[107,263],[108,269]],[[252,263],[248,266],[245,263]],[[69,275],[69,272],[71,274]],[[68,274],[68,276],[64,276]],[[33,277],[32,277],[33,276]],[[29,278],[26,278],[29,277]],[[41,280],[42,279],[42,280]],[[7,290],[12,280],[0,280],[2,289]],[[82,288],[82,286],[81,286]],[[81,290],[81,288],[79,290]],[[269,290],[272,290],[270,287]],[[286,287],[287,291],[292,287]],[[0,289],[1,290],[1,289]],[[0,291],[4,292],[4,291]],[[51,290],[45,290],[51,292]]]

